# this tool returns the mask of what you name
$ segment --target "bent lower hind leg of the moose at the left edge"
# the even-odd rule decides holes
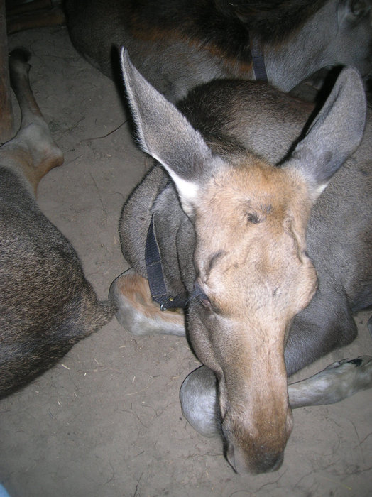
[[[63,154],[55,145],[48,124],[35,102],[28,80],[30,53],[23,48],[9,57],[11,87],[21,108],[21,128],[16,136],[0,148],[1,163],[26,177],[36,193],[41,178],[63,163]]]

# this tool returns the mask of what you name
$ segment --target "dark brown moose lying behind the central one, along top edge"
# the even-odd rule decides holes
[[[115,48],[126,46],[171,102],[217,78],[267,78],[288,92],[324,67],[352,65],[368,76],[371,8],[371,0],[66,1],[78,52],[113,77]]]

